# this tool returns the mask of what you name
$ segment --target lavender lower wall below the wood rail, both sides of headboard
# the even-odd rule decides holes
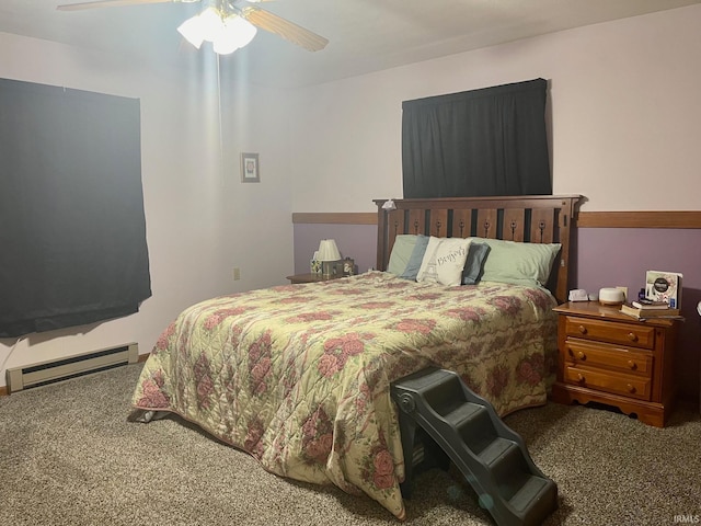
[[[645,271],[683,274],[676,378],[680,396],[699,400],[701,317],[701,230],[578,228],[574,239],[572,288],[598,291],[601,287],[628,287],[636,295]],[[343,256],[350,256],[359,272],[376,265],[377,227],[368,225],[295,225],[295,273],[309,272],[309,260],[319,241],[333,238]]]

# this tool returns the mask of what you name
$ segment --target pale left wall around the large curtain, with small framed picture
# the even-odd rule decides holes
[[[19,340],[0,339],[0,388],[5,386],[7,368],[129,342],[148,353],[184,307],[286,283],[294,263],[291,183],[285,170],[288,130],[277,102],[284,98],[263,89],[229,87],[231,96],[221,101],[223,112],[233,114],[231,104],[251,110],[223,119],[226,137],[220,139],[216,62],[192,67],[195,75],[138,57],[0,33],[2,78],[140,99],[153,293],[138,313],[126,318]],[[258,112],[256,105],[269,112]],[[240,182],[241,151],[260,152],[261,183]],[[240,281],[233,281],[233,267],[241,270]]]

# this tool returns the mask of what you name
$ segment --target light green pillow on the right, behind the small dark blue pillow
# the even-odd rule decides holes
[[[560,243],[517,243],[501,239],[471,238],[487,243],[483,282],[545,286]]]

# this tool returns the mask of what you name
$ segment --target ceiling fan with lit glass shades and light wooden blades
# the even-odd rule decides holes
[[[118,8],[146,3],[196,3],[208,4],[202,13],[186,20],[177,31],[195,47],[203,41],[214,43],[215,52],[226,55],[249,44],[256,27],[281,36],[288,42],[310,52],[326,47],[329,41],[289,20],[266,11],[254,3],[269,0],[96,0],[92,2],[58,5],[59,11],[78,11],[93,8]]]

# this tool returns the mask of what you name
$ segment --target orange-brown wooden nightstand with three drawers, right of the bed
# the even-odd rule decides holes
[[[637,321],[618,306],[556,307],[558,381],[552,400],[599,402],[664,427],[675,398],[675,320]]]

